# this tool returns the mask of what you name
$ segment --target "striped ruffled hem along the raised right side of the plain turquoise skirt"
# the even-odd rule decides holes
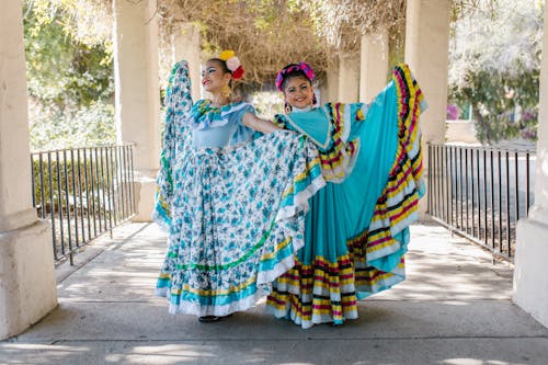
[[[419,218],[419,198],[423,194],[422,150],[419,116],[423,94],[407,65],[395,68],[392,81],[398,100],[399,144],[388,183],[377,199],[367,231],[349,240],[349,250],[356,267],[363,271],[357,285],[369,294],[404,280],[403,254],[407,251],[408,227]],[[393,272],[370,266],[374,261],[395,261]]]

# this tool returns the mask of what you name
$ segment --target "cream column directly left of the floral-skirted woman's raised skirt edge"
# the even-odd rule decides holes
[[[114,79],[118,142],[135,144],[136,221],[149,221],[160,156],[156,0],[115,0]]]

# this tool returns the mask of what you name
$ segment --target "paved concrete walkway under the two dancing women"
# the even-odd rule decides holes
[[[404,283],[361,303],[358,320],[302,330],[262,303],[218,323],[169,315],[152,296],[165,236],[127,225],[58,270],[59,307],[0,342],[0,363],[548,364],[548,329],[512,304],[511,267],[439,226],[411,232]]]

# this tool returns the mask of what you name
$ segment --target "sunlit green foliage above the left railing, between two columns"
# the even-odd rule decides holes
[[[75,38],[66,11],[71,3],[65,2],[65,8],[46,0],[25,3],[32,149],[115,140],[112,52],[107,43]]]

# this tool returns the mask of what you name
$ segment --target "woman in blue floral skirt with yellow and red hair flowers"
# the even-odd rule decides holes
[[[193,104],[185,61],[173,68],[153,219],[168,230],[156,294],[202,322],[252,307],[293,267],[308,199],[324,185],[306,137],[231,102],[243,70],[232,52],[206,62],[210,100]],[[258,134],[261,132],[261,134]]]

